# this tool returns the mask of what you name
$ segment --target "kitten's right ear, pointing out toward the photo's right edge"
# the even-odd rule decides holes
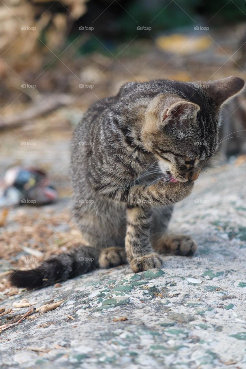
[[[203,82],[202,89],[208,93],[218,106],[223,105],[230,97],[239,93],[245,85],[242,78],[230,76],[215,81]]]

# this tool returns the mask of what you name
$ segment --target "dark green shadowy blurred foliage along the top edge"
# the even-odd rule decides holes
[[[245,21],[245,4],[241,0],[90,0],[88,11],[79,20],[94,27],[93,35],[109,50],[119,41],[130,42],[134,37],[151,38],[163,32],[191,30],[195,25],[221,27]],[[106,9],[106,10],[105,10]],[[137,27],[151,27],[137,30]],[[74,29],[76,32],[76,29]],[[82,54],[91,51],[107,54],[92,36],[82,45]],[[108,55],[108,54],[107,54]]]

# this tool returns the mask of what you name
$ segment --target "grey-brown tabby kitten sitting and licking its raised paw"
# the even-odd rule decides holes
[[[130,82],[92,104],[71,150],[74,219],[89,246],[17,270],[12,284],[44,286],[126,261],[137,273],[160,268],[160,254],[192,255],[191,237],[167,231],[173,205],[191,193],[217,148],[221,107],[243,86],[233,76]]]

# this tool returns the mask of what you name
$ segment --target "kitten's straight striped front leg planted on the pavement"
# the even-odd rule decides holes
[[[150,209],[127,209],[125,248],[134,273],[161,268],[162,260],[150,244],[151,215]]]

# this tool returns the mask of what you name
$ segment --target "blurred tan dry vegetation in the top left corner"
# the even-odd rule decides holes
[[[1,1],[0,54],[4,54],[5,62],[1,62],[0,75],[8,74],[11,69],[31,73],[42,68],[47,56],[50,62],[55,60],[54,54],[66,42],[72,25],[86,12],[87,2]]]

